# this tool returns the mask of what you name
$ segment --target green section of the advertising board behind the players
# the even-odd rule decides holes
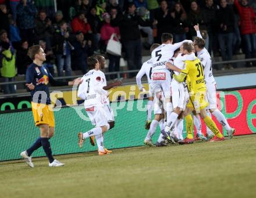
[[[104,144],[108,149],[143,145],[147,134],[144,129],[147,118],[147,100],[129,102],[113,102],[115,127],[105,133]],[[139,110],[138,110],[139,109]],[[90,141],[84,142],[79,148],[77,133],[93,128],[88,120],[84,106],[56,108],[55,135],[51,138],[54,155],[97,151],[97,145],[91,146]],[[38,127],[34,126],[31,111],[0,114],[0,161],[20,159],[19,153],[29,148],[40,135]],[[87,119],[87,120],[83,120]],[[153,140],[157,141],[159,130]],[[42,148],[33,153],[33,157],[45,156]]]

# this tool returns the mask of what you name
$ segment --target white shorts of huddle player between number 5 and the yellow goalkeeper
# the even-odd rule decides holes
[[[183,83],[178,83],[175,79],[173,79],[171,87],[173,109],[179,107],[184,110],[186,108],[187,101],[185,100],[185,89]]]

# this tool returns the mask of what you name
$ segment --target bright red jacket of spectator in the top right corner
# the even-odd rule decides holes
[[[254,9],[249,6],[242,6],[238,0],[234,0],[234,5],[239,12],[240,16],[240,30],[241,34],[254,34],[256,33],[256,24],[255,24],[255,13]]]

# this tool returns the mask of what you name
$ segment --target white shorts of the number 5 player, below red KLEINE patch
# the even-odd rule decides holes
[[[163,91],[165,98],[170,98],[170,72],[165,70],[154,71],[151,75],[152,92]]]

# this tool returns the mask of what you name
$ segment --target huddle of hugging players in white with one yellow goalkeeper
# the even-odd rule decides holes
[[[161,133],[156,146],[191,144],[196,138],[202,141],[223,141],[211,114],[227,130],[229,138],[235,130],[216,105],[216,82],[212,74],[212,61],[198,25],[194,26],[197,37],[173,44],[173,36],[162,34],[162,45],[151,46],[151,59],[146,61],[136,76],[140,91],[144,91],[141,77],[146,74],[149,85],[147,121],[149,129],[144,144],[152,146],[152,136],[159,124]],[[195,56],[197,53],[197,56]],[[154,107],[155,119],[151,121]],[[201,132],[201,119],[207,125],[207,137]],[[183,140],[183,118],[186,120],[186,138]]]

